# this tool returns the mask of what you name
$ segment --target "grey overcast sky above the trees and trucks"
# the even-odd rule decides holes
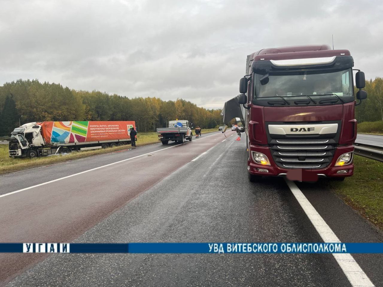
[[[222,108],[246,55],[330,44],[383,77],[383,1],[0,0],[0,85],[37,78]]]

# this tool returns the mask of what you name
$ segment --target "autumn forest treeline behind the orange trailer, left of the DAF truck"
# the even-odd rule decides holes
[[[222,123],[220,109],[205,109],[184,99],[127,98],[100,91],[76,91],[55,83],[17,80],[0,86],[0,136],[26,122],[135,121],[140,132],[186,119],[195,126]]]

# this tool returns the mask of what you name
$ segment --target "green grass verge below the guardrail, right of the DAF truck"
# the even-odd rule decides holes
[[[383,230],[383,163],[354,156],[354,176],[326,181],[347,204]]]

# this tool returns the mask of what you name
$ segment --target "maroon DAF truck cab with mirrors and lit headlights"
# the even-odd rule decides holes
[[[247,57],[238,104],[247,125],[250,181],[339,180],[354,173],[354,107],[367,97],[348,50],[327,45],[262,49]]]

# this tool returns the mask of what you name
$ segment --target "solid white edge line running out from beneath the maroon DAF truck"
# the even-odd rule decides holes
[[[319,235],[322,237],[323,241],[326,243],[340,242],[339,238],[327,225],[324,219],[322,219],[321,215],[319,215],[298,186],[296,186],[296,184],[292,181],[287,179],[285,180],[296,200],[301,205],[303,211],[306,213],[311,223],[313,223],[316,231],[318,231]],[[349,279],[352,286],[375,286],[350,253],[333,253],[332,255],[339,264],[340,268],[342,268],[345,276]]]

